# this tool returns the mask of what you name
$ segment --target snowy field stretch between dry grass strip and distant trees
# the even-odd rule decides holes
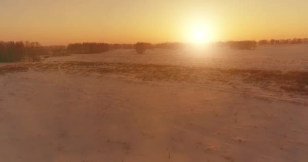
[[[308,70],[308,44],[261,46],[257,50],[205,48],[184,50],[115,50],[103,54],[51,57],[48,61],[103,61],[240,69]]]

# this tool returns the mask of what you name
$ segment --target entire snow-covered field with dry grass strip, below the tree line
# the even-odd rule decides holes
[[[0,64],[0,161],[306,161],[308,46]]]

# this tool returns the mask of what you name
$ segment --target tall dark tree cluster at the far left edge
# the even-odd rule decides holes
[[[0,62],[38,61],[44,48],[38,42],[0,41]]]

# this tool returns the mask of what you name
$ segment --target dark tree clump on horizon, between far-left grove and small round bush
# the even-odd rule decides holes
[[[109,45],[105,43],[75,43],[67,46],[67,53],[94,54],[109,51]]]

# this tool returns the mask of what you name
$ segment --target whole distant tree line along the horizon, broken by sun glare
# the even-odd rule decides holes
[[[257,46],[265,45],[297,45],[308,44],[308,38],[293,39],[263,39],[260,41],[227,41],[216,42],[213,45],[240,50],[255,50]],[[74,43],[67,46],[42,46],[38,42],[3,42],[0,41],[0,62],[40,61],[40,55],[67,56],[69,54],[94,54],[109,50],[135,49],[142,54],[146,49],[182,49],[183,43],[137,43],[137,44],[107,44],[107,43]]]

